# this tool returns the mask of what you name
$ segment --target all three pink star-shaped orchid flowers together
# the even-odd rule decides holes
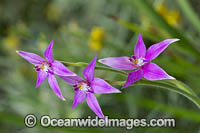
[[[128,74],[126,83],[123,88],[126,88],[134,82],[144,77],[147,80],[163,80],[163,79],[175,79],[168,75],[158,65],[151,63],[153,59],[160,55],[171,43],[178,41],[179,39],[167,39],[160,43],[156,43],[146,50],[146,46],[142,40],[141,34],[139,34],[138,41],[134,48],[134,55],[131,57],[109,57],[100,59],[99,62],[120,70],[132,70]],[[44,52],[42,57],[24,51],[17,51],[25,60],[32,63],[35,66],[37,72],[36,88],[48,78],[48,82],[54,93],[62,100],[65,100],[58,86],[55,75],[72,85],[74,88],[74,102],[72,108],[75,108],[78,104],[86,99],[88,106],[93,112],[100,118],[104,118],[99,103],[95,97],[95,93],[120,93],[120,91],[112,87],[109,83],[101,78],[94,78],[94,69],[97,60],[97,56],[89,63],[89,65],[83,70],[83,78],[76,75],[67,69],[61,62],[54,60],[52,55],[53,41]]]

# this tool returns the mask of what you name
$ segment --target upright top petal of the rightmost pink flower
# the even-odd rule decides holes
[[[134,48],[134,55],[137,57],[137,58],[144,58],[145,55],[146,55],[146,46],[142,40],[142,35],[139,34],[138,36],[138,41],[135,45],[135,48]]]

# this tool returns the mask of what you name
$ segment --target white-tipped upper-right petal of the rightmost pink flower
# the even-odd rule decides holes
[[[156,43],[149,47],[146,53],[146,59],[151,61],[155,59],[160,53],[162,53],[171,43],[178,41],[179,39],[167,39],[160,43]]]

